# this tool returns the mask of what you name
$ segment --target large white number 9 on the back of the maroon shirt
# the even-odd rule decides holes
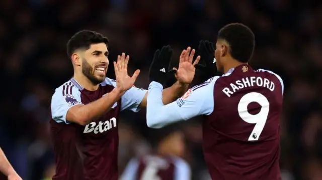
[[[248,112],[247,106],[251,102],[257,102],[262,106],[261,111],[258,114],[253,115]],[[245,122],[256,124],[250,137],[248,138],[249,141],[259,139],[264,129],[269,110],[270,103],[268,102],[267,98],[261,93],[251,92],[241,97],[238,103],[238,113],[240,118]]]

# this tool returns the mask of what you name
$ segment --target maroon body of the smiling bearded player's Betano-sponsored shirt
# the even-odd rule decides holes
[[[69,85],[70,87],[70,85]],[[70,93],[71,88],[63,88]],[[93,102],[111,92],[113,86],[99,87],[96,91],[81,91],[83,104]],[[117,180],[118,117],[117,106],[87,126],[50,121],[56,158],[53,180]]]

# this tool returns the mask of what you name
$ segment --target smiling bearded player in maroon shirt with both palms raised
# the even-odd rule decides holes
[[[67,43],[74,75],[55,90],[51,101],[54,180],[118,179],[119,113],[126,109],[137,112],[146,107],[147,91],[133,86],[140,71],[128,76],[129,56],[124,53],[113,62],[116,80],[106,77],[107,45],[106,37],[87,30],[77,32]],[[181,58],[192,60],[195,51],[191,54],[190,51],[190,48],[184,50]],[[167,74],[171,56],[170,46],[157,50],[150,72],[155,76]],[[185,92],[199,59],[194,64],[181,63],[180,73],[176,75],[180,82],[164,89],[163,103],[171,103]]]

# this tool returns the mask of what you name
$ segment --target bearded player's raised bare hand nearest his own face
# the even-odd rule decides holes
[[[116,77],[116,87],[122,92],[130,89],[140,74],[140,70],[136,70],[132,77],[127,74],[127,64],[129,59],[129,55],[125,57],[125,53],[122,53],[121,56],[117,56],[117,62],[113,62]]]

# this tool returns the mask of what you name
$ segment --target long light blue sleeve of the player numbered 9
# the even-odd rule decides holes
[[[219,76],[208,79],[189,89],[181,98],[170,104],[162,102],[163,86],[151,82],[148,88],[146,124],[151,128],[188,120],[198,115],[209,115],[214,108],[213,88]]]

